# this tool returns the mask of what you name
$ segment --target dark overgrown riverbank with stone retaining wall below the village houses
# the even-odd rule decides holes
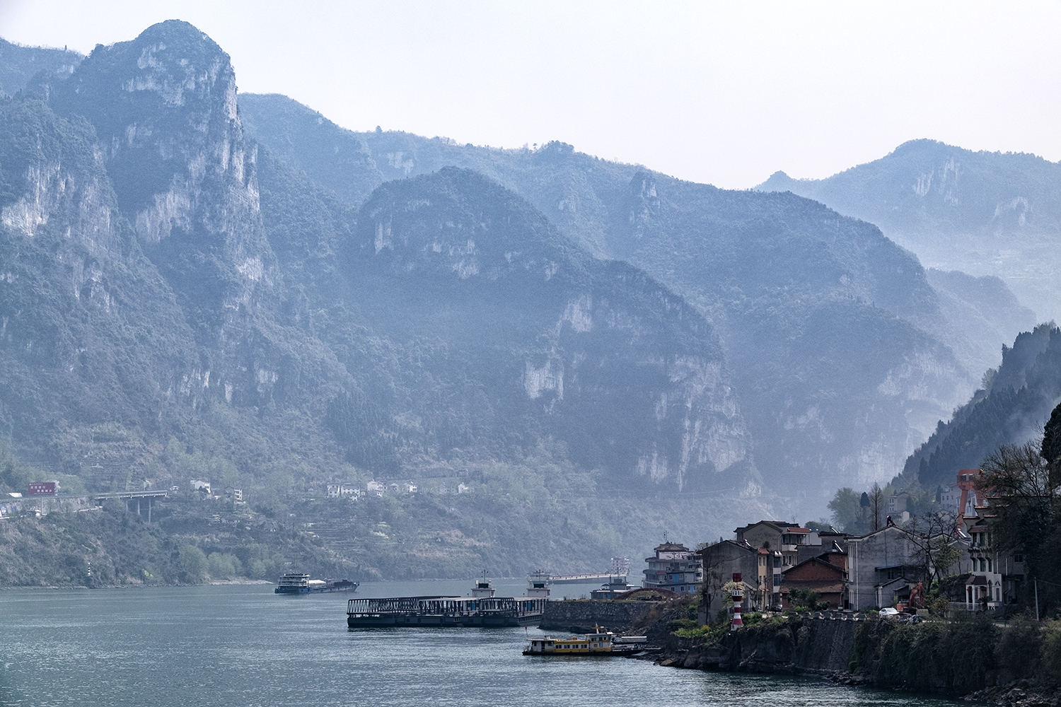
[[[748,620],[750,625],[736,632],[726,625],[671,631],[655,662],[689,670],[816,675],[845,685],[997,705],[1061,705],[1061,621],[998,625],[973,615],[901,624],[874,614],[839,612],[828,617],[751,615]],[[660,629],[675,624],[662,615],[660,622]]]

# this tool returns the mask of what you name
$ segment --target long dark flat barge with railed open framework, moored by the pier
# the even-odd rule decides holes
[[[351,599],[346,605],[346,623],[350,629],[538,625],[545,614],[549,590],[527,594],[532,596],[494,597],[484,577],[472,588],[471,597]]]

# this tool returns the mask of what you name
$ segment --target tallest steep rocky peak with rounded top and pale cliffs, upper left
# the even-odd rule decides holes
[[[279,275],[262,226],[257,146],[243,136],[231,61],[212,39],[168,20],[98,46],[50,103],[94,127],[119,207],[178,296],[205,297],[203,311],[216,313],[269,295]],[[210,318],[202,331],[226,325]]]

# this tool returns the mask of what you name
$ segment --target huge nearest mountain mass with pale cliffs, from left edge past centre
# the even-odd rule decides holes
[[[2,123],[0,400],[31,461],[265,493],[550,442],[612,489],[759,478],[703,317],[490,179],[351,208],[244,134],[228,56],[185,22],[42,85]]]

